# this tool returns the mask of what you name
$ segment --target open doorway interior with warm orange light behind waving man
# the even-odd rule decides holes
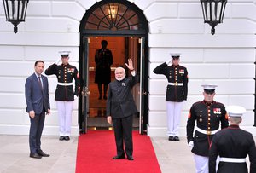
[[[88,89],[90,95],[87,97],[88,101],[88,115],[87,115],[87,127],[88,129],[102,130],[112,129],[112,125],[107,123],[106,120],[106,101],[103,98],[99,99],[99,92],[97,84],[95,83],[95,54],[96,49],[101,49],[102,40],[108,41],[107,49],[112,51],[113,65],[111,66],[111,81],[114,80],[114,70],[116,67],[125,67],[127,77],[130,76],[130,72],[127,71],[125,62],[128,58],[131,58],[137,74],[140,73],[140,44],[139,37],[88,37]],[[86,70],[86,69],[84,69]],[[102,87],[103,88],[103,87]],[[103,89],[102,89],[103,90]],[[140,81],[133,88],[132,94],[137,104],[137,115],[134,115],[133,128],[139,128],[140,120]]]

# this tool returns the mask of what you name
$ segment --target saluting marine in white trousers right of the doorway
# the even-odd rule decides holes
[[[179,54],[172,54],[168,60],[154,68],[155,74],[163,74],[168,80],[166,89],[167,135],[169,141],[179,141],[179,123],[183,101],[188,95],[188,71],[179,65]],[[171,62],[172,61],[172,62]]]

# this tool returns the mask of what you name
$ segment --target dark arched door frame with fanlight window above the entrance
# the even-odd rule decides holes
[[[123,7],[126,7],[125,13],[128,11],[128,9],[132,12],[134,12],[137,15],[137,27],[133,27],[129,24],[129,22],[125,22],[128,24],[128,29],[122,29],[121,27],[114,26],[117,30],[112,30],[113,25],[115,22],[110,23],[111,28],[109,29],[102,29],[101,24],[94,28],[91,27],[90,17],[96,15],[97,9],[101,9],[104,5],[110,6],[110,4],[118,4],[118,7],[120,5]],[[119,9],[119,8],[118,8]],[[120,8],[121,9],[121,8]],[[102,9],[100,10],[102,11]],[[124,14],[125,14],[124,13]],[[117,14],[119,14],[117,12]],[[111,14],[110,14],[111,15]],[[134,16],[134,14],[132,14]],[[107,19],[107,16],[104,19]],[[127,20],[125,20],[125,17],[128,17]],[[131,17],[128,15],[123,15],[121,19],[124,19],[125,21],[131,20]],[[96,17],[96,20],[100,20],[99,22],[103,21],[102,19],[99,19]],[[111,20],[107,20],[111,21]],[[117,22],[116,22],[117,23]],[[106,23],[105,23],[106,24]],[[89,27],[88,27],[89,26]],[[140,94],[141,94],[141,110],[140,110],[140,117],[143,117],[140,119],[140,133],[144,134],[147,132],[147,124],[148,124],[148,20],[146,19],[145,15],[143,14],[143,10],[139,9],[135,3],[131,3],[129,1],[125,0],[104,0],[100,2],[96,2],[94,5],[90,7],[90,9],[86,10],[79,26],[79,32],[80,32],[80,45],[79,45],[79,73],[80,73],[80,80],[81,80],[81,93],[79,96],[79,128],[81,133],[87,133],[87,114],[88,110],[88,100],[85,98],[87,95],[86,87],[88,88],[88,37],[96,37],[96,36],[107,36],[107,37],[143,37],[143,42],[141,43],[141,46],[143,45],[144,49],[141,48],[141,55],[140,55],[140,61],[141,61],[141,70],[143,69],[143,73],[140,72],[140,75],[142,78],[140,78],[140,83],[143,84],[140,86]],[[143,57],[143,58],[142,58]],[[142,61],[142,59],[144,61]],[[87,70],[83,70],[84,67]],[[143,116],[142,116],[143,115]],[[85,128],[86,127],[86,128]]]

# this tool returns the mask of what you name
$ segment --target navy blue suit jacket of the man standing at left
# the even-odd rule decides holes
[[[44,108],[47,112],[49,107],[49,89],[47,77],[41,75],[43,80],[43,90],[41,89],[37,75],[33,73],[26,78],[25,96],[26,96],[26,112],[34,111],[40,114]]]

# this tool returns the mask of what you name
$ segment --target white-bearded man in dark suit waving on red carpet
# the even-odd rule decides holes
[[[132,120],[133,114],[137,113],[137,107],[131,94],[131,89],[137,84],[137,74],[134,70],[131,59],[125,63],[131,71],[131,77],[125,78],[125,69],[116,68],[114,74],[116,80],[109,84],[107,100],[107,120],[113,123],[117,155],[113,159],[133,160],[132,144]],[[124,152],[125,141],[125,152]]]

